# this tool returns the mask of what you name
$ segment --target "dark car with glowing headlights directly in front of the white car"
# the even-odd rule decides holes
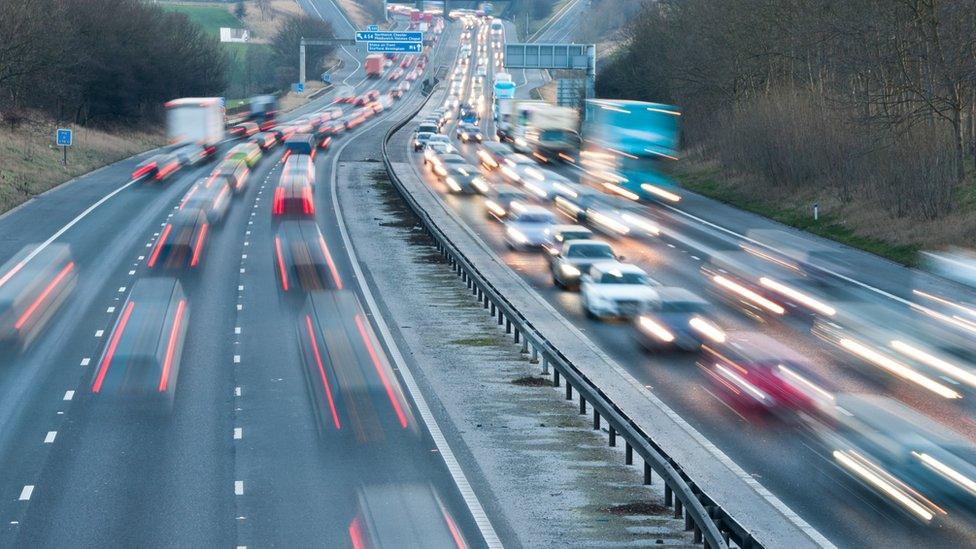
[[[657,289],[657,301],[634,319],[637,341],[648,350],[694,351],[702,342],[723,343],[725,332],[712,320],[714,307],[684,288]]]

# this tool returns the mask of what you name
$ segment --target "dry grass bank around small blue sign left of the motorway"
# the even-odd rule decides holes
[[[68,165],[62,166],[54,133],[55,124],[39,118],[14,127],[0,126],[0,213],[69,179],[166,141],[162,133],[108,133],[76,127]]]

